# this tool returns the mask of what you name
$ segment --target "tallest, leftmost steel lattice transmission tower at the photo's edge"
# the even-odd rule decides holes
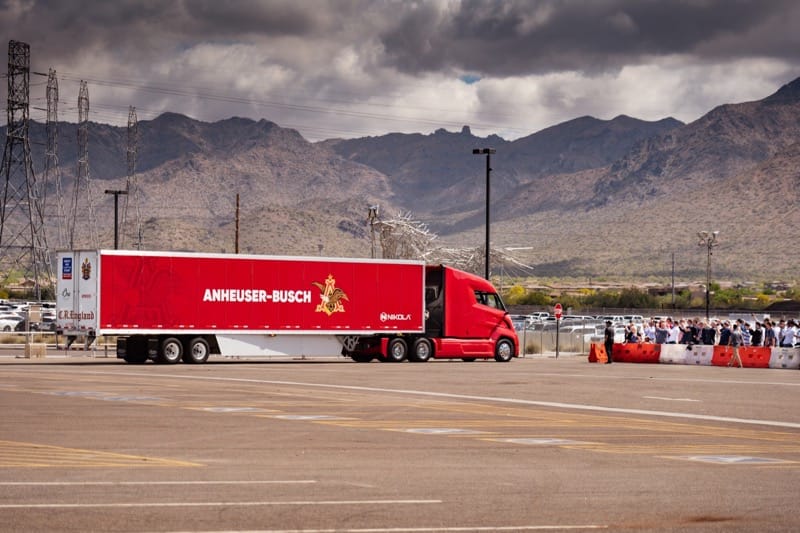
[[[37,300],[52,287],[44,232],[43,198],[33,172],[29,140],[30,60],[27,43],[8,42],[8,122],[0,205],[0,283],[32,282]],[[27,289],[27,288],[26,288]]]

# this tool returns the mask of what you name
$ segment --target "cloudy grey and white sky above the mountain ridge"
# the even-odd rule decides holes
[[[4,54],[31,46],[33,119],[55,69],[60,120],[77,121],[86,80],[93,121],[134,106],[309,140],[690,122],[800,77],[796,0],[0,0],[0,28]]]

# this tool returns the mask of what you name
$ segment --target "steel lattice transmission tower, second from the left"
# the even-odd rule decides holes
[[[64,191],[61,183],[61,169],[58,166],[58,78],[56,78],[56,71],[50,69],[47,75],[47,123],[45,125],[47,130],[47,146],[45,147],[45,162],[44,162],[44,183],[45,185],[53,184],[55,191],[55,214],[51,215],[55,218],[55,223],[50,224],[50,228],[56,228],[56,242],[53,242],[52,234],[49,239],[49,244],[55,244],[56,249],[61,249],[67,246],[67,232],[66,232],[66,212],[64,211]],[[46,193],[45,193],[46,194]],[[52,212],[52,208],[46,205],[46,196],[43,195],[42,212]]]

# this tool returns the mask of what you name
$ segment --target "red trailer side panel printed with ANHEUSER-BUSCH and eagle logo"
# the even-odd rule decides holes
[[[103,330],[424,330],[422,263],[104,251]]]

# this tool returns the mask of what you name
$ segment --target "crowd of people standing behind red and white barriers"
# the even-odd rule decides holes
[[[755,317],[754,317],[755,318]],[[651,319],[644,324],[631,322],[625,328],[626,343],[655,344],[708,344],[728,346],[733,334],[741,335],[742,346],[766,346],[791,348],[800,346],[800,321],[755,320],[751,326],[743,319],[709,320],[699,318],[673,320]]]

